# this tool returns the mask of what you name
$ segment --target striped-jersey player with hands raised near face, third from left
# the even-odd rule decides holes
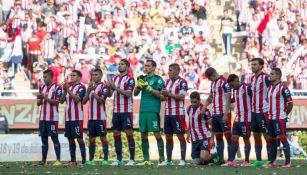
[[[92,71],[92,82],[89,83],[87,92],[83,98],[83,104],[88,104],[88,132],[89,132],[89,161],[86,165],[95,165],[94,154],[96,147],[96,137],[100,137],[103,150],[102,165],[108,165],[109,144],[106,138],[106,106],[105,101],[109,95],[108,87],[101,82],[101,69],[94,69]]]

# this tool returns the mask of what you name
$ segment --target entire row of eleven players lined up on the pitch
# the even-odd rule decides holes
[[[241,166],[269,168],[277,167],[277,147],[282,143],[285,154],[284,168],[291,167],[290,145],[286,135],[287,116],[291,112],[293,102],[287,85],[281,82],[281,70],[272,68],[270,75],[262,72],[264,61],[261,58],[251,60],[254,73],[251,84],[240,81],[235,74],[228,78],[219,75],[214,68],[208,68],[205,76],[211,81],[210,95],[202,102],[196,91],[189,94],[191,105],[185,107],[184,101],[188,92],[188,84],[179,76],[180,66],[170,64],[168,80],[155,74],[157,64],[147,60],[145,75],[135,81],[128,74],[130,63],[122,59],[118,66],[118,75],[102,82],[103,73],[96,68],[91,72],[91,82],[86,88],[80,83],[82,73],[74,70],[70,82],[58,85],[53,82],[53,72],[45,70],[44,84],[37,95],[37,105],[41,106],[39,131],[42,141],[42,161],[39,165],[47,165],[48,137],[54,144],[56,153],[55,166],[62,165],[61,147],[58,139],[58,105],[65,103],[65,137],[69,142],[71,160],[64,165],[78,165],[76,161],[76,142],[80,147],[81,164],[96,165],[94,154],[96,137],[100,138],[103,160],[102,165],[151,165],[149,155],[148,133],[153,132],[159,152],[159,166],[174,165],[172,152],[173,135],[180,142],[181,158],[178,165],[185,166],[187,143],[191,143],[193,164],[207,165],[214,163],[221,166],[237,166],[236,153],[239,137],[244,141],[245,159]],[[133,96],[141,93],[139,112],[139,131],[144,161],[135,161],[135,140],[133,138]],[[109,162],[109,144],[106,128],[105,101],[113,96],[112,132],[116,160]],[[165,101],[163,132],[161,136],[160,110],[161,101]],[[83,105],[88,103],[88,136],[89,160],[86,160],[86,148],[83,138]],[[235,107],[235,119],[231,124],[231,103]],[[208,107],[212,105],[210,111]],[[185,116],[188,116],[186,123]],[[128,140],[129,161],[124,163],[122,156],[121,134],[124,132]],[[253,133],[256,161],[250,162]],[[186,134],[186,136],[185,136]],[[266,141],[267,161],[261,156],[262,136]],[[224,159],[224,138],[227,141],[228,160]],[[211,149],[215,147],[216,153]],[[166,150],[166,157],[164,156]]]

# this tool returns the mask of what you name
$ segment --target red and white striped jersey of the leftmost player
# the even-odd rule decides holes
[[[51,100],[59,101],[62,95],[62,89],[56,83],[51,84],[50,86],[42,85],[39,88],[39,92],[48,96]],[[44,101],[41,105],[40,110],[40,120],[43,121],[59,121],[59,110],[57,105],[51,105],[47,101]]]

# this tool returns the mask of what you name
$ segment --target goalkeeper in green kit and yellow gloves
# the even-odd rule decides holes
[[[161,100],[164,97],[160,91],[164,88],[164,80],[155,75],[157,63],[153,60],[147,60],[144,72],[146,75],[139,76],[137,79],[137,88],[134,96],[141,94],[141,105],[139,115],[139,130],[142,137],[142,151],[144,162],[139,165],[151,165],[149,158],[148,132],[153,132],[157,140],[159,161],[164,161],[164,143],[160,134],[160,108]]]

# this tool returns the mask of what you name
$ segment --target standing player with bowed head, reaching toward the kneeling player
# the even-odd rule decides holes
[[[210,95],[204,104],[203,113],[205,113],[207,107],[213,103],[212,132],[216,138],[216,149],[219,155],[220,164],[222,165],[225,163],[223,133],[227,140],[228,159],[230,158],[231,90],[226,78],[219,75],[214,68],[209,67],[205,71],[205,76],[212,81],[212,84]]]

